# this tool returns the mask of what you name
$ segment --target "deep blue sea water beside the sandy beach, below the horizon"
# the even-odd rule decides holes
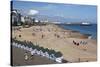
[[[82,34],[89,34],[93,39],[97,39],[97,24],[92,24],[90,26],[81,26],[81,25],[59,25],[64,29],[71,29],[79,31]]]

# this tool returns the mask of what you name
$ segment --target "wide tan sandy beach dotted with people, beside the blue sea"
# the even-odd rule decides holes
[[[86,35],[72,30],[64,30],[57,25],[32,26],[23,28],[12,27],[12,37],[20,41],[31,41],[39,46],[61,51],[69,62],[88,62],[97,60],[97,42]],[[19,36],[20,35],[20,36]],[[79,43],[75,45],[73,43]],[[85,42],[85,44],[83,44]]]

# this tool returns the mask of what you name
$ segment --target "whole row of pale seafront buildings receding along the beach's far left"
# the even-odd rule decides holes
[[[31,16],[23,16],[20,11],[14,9],[11,11],[11,22],[13,26],[18,26],[24,24],[33,23],[47,23],[48,20],[38,20],[37,18],[32,18]]]

